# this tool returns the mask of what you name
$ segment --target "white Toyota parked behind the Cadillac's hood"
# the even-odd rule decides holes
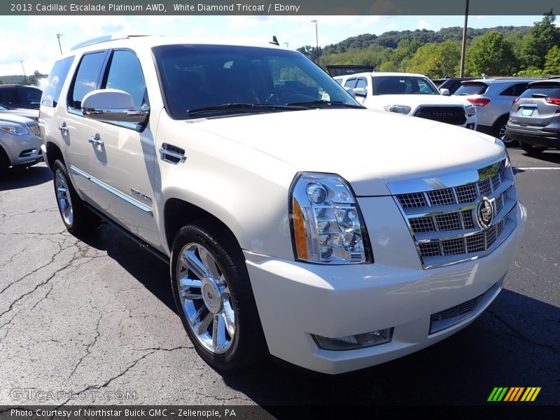
[[[354,73],[335,76],[337,82],[352,89],[356,100],[369,109],[403,113],[452,125],[477,129],[476,107],[466,99],[449,97],[421,74]]]

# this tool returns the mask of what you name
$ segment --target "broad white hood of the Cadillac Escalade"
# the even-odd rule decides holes
[[[237,141],[297,171],[339,174],[356,195],[386,183],[483,167],[505,157],[494,139],[453,125],[367,109],[314,109],[214,118],[199,130]]]

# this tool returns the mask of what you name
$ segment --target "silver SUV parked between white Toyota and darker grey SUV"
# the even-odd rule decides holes
[[[537,78],[484,78],[468,80],[454,95],[463,96],[477,106],[477,131],[498,137],[506,146],[517,144],[505,131],[513,99]]]

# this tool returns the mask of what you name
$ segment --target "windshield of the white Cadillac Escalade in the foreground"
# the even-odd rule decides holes
[[[201,109],[207,117],[359,106],[299,52],[232,45],[161,45],[153,52],[167,112],[176,120],[200,118]],[[296,103],[304,106],[289,106]]]

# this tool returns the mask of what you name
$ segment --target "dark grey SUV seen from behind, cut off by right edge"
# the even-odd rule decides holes
[[[529,153],[560,148],[560,78],[529,83],[514,99],[507,135]]]

